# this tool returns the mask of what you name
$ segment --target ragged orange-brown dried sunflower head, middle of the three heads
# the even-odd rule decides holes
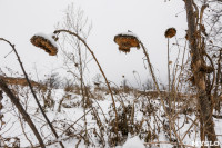
[[[132,47],[140,48],[138,38],[131,32],[117,34],[114,42],[119,45],[119,50],[123,52],[130,52],[130,48]]]

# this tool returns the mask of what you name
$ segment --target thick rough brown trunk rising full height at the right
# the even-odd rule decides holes
[[[205,82],[205,76],[206,73],[203,71],[200,71],[201,66],[205,65],[205,61],[203,60],[203,55],[200,50],[200,37],[196,37],[196,33],[199,30],[196,29],[196,20],[199,20],[198,16],[194,16],[193,6],[195,7],[195,3],[193,0],[185,0],[185,9],[186,9],[186,20],[188,20],[188,28],[189,28],[189,42],[190,42],[190,49],[191,49],[191,68],[192,73],[195,80],[195,87],[198,90],[198,103],[199,103],[199,114],[200,114],[200,137],[201,141],[205,140],[205,137],[208,138],[208,141],[218,141],[215,129],[214,129],[214,122],[211,115],[211,103],[209,100],[209,96],[206,92],[206,82]],[[198,13],[198,8],[195,8],[195,11]],[[199,32],[200,33],[200,32]],[[205,131],[206,132],[205,132]],[[211,135],[210,135],[211,134]],[[212,148],[219,148],[220,146],[212,146]]]

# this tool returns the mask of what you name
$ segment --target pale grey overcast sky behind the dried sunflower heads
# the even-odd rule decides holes
[[[186,19],[182,0],[0,0],[0,37],[16,45],[27,71],[36,77],[36,67],[42,78],[52,69],[61,68],[62,60],[59,56],[49,57],[29,40],[38,32],[53,32],[54,26],[62,21],[65,8],[72,2],[92,22],[88,43],[109,80],[119,83],[124,75],[135,85],[132,71],[137,71],[142,81],[151,78],[144,68],[141,49],[131,49],[128,55],[120,53],[118,45],[113,42],[115,34],[131,30],[147,47],[157,76],[162,82],[167,82],[168,41],[164,31],[174,27],[178,30],[176,38],[180,40],[184,37]],[[171,42],[175,42],[175,39],[171,39]],[[7,66],[21,71],[13,53],[4,58],[10,51],[8,45],[0,42],[0,67]],[[171,49],[172,55],[176,52],[176,49]],[[91,77],[98,72],[94,65],[90,71]]]

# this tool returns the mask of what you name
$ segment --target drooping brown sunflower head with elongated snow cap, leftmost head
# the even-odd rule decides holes
[[[58,52],[58,48],[52,39],[49,39],[46,36],[33,36],[30,39],[31,43],[36,47],[43,49],[50,56],[56,56]]]

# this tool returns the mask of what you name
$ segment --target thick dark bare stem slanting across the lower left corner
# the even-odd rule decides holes
[[[11,102],[17,107],[17,109],[19,110],[19,112],[22,115],[22,117],[24,118],[24,120],[28,122],[28,125],[30,126],[30,128],[32,129],[34,136],[37,137],[40,146],[42,148],[46,148],[44,142],[39,134],[39,131],[37,130],[34,124],[32,122],[30,116],[27,114],[27,111],[23,109],[22,105],[19,102],[19,99],[12,93],[12,91],[8,88],[7,83],[2,80],[2,78],[0,78],[0,88],[7,93],[7,96],[11,99]]]

